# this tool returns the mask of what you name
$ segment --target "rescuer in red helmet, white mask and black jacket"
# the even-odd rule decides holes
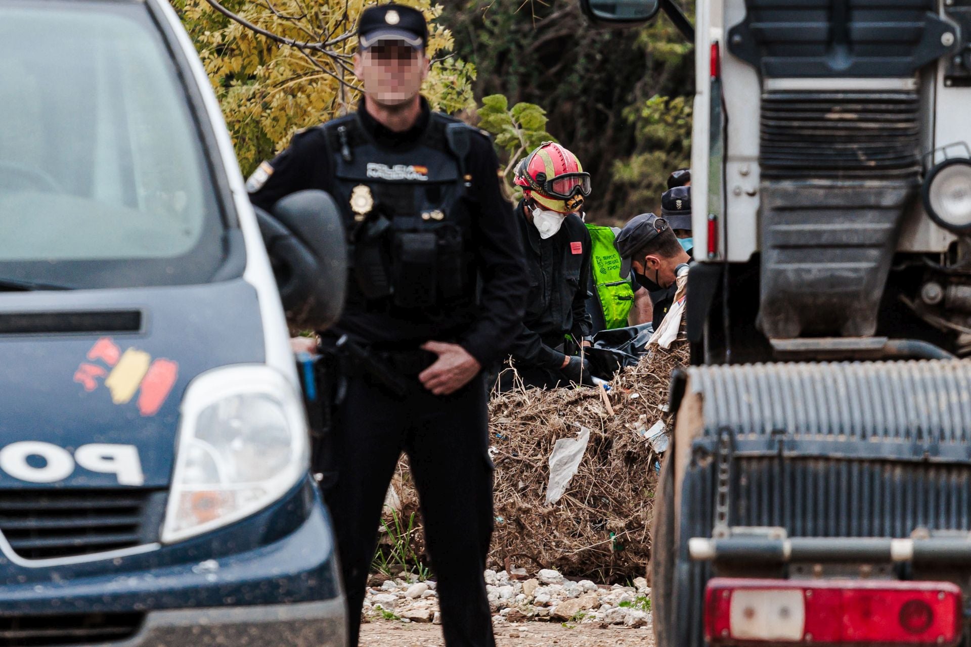
[[[511,348],[517,372],[499,374],[499,389],[590,383],[589,361],[566,348],[590,345],[593,320],[586,311],[590,279],[590,235],[578,211],[590,193],[590,176],[577,156],[552,142],[519,162],[515,182],[522,187],[516,208],[526,253],[529,298]]]

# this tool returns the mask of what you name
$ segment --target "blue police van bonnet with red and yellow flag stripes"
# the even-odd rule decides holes
[[[141,312],[141,330],[0,335],[0,449],[17,441],[50,443],[69,453],[89,443],[134,445],[145,476],[142,486],[164,488],[171,479],[179,406],[188,383],[211,369],[264,361],[256,291],[234,279],[4,293],[0,300],[0,320],[25,312],[106,310]],[[33,467],[43,467],[37,457],[28,460],[33,459],[40,461]],[[118,485],[116,474],[80,466],[52,483],[17,478],[0,466],[0,489]]]

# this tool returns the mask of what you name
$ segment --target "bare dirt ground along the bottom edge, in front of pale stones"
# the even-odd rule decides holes
[[[569,629],[555,623],[522,623],[495,628],[497,647],[652,647],[653,631],[643,629],[599,629],[578,625]],[[396,621],[372,622],[361,626],[361,647],[443,647],[442,628],[435,625],[405,625]]]

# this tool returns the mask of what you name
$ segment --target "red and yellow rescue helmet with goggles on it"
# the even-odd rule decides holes
[[[580,160],[552,142],[544,142],[519,162],[514,181],[524,197],[558,213],[581,210],[590,194],[590,174],[584,173]]]

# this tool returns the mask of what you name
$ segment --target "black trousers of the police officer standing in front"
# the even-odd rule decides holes
[[[350,644],[357,645],[368,570],[378,543],[388,483],[408,454],[448,647],[494,647],[485,597],[492,536],[492,462],[488,456],[485,377],[437,397],[410,377],[397,398],[369,376],[351,375],[338,404],[323,495],[334,518],[349,605]]]

